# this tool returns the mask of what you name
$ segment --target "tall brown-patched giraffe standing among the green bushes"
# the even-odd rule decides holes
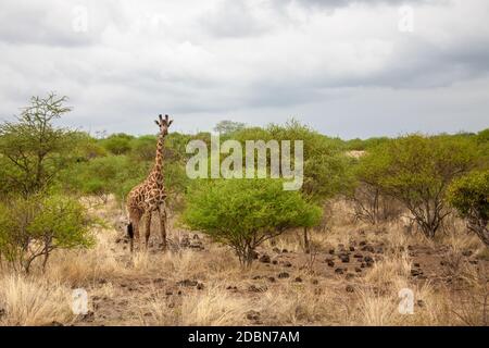
[[[158,136],[156,157],[154,166],[148,177],[134,187],[127,196],[127,211],[129,213],[129,224],[127,232],[130,238],[130,251],[134,250],[134,239],[139,241],[139,222],[145,221],[145,240],[148,248],[148,240],[151,234],[151,215],[158,212],[160,219],[160,232],[162,237],[163,249],[166,249],[166,191],[163,183],[163,148],[165,137],[173,120],[165,115],[159,115],[159,120],[154,121],[160,127]]]

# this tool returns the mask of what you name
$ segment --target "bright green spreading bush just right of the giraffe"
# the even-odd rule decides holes
[[[288,228],[314,226],[322,211],[278,179],[199,181],[187,194],[183,221],[234,248],[242,264],[253,250]]]

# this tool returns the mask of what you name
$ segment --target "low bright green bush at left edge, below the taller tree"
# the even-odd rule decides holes
[[[29,272],[42,257],[42,268],[54,249],[88,248],[93,221],[75,199],[32,196],[0,203],[0,256],[14,269]]]

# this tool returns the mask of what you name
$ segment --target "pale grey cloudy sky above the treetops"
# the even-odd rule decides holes
[[[90,132],[291,116],[344,138],[489,126],[487,0],[1,0],[0,119]]]

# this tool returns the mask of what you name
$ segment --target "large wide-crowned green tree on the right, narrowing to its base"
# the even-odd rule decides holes
[[[405,206],[427,237],[435,237],[444,217],[450,183],[474,164],[469,139],[422,135],[392,139],[372,149],[360,163],[360,177]]]

